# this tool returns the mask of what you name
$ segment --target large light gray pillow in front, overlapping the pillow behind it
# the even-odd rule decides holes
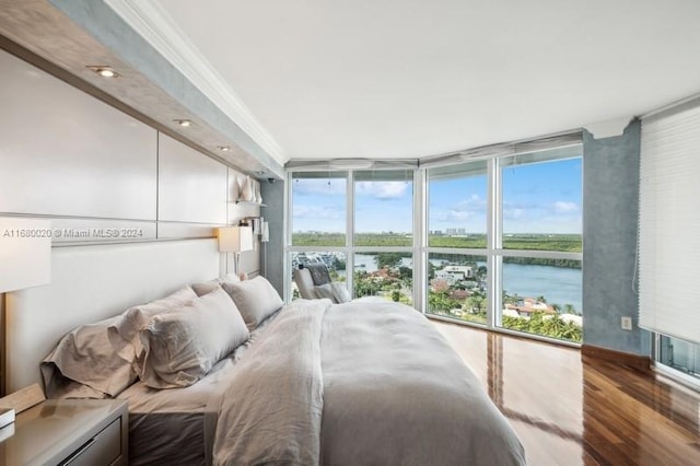
[[[189,386],[248,339],[235,304],[222,290],[154,316],[140,331],[141,381],[153,388]]]

